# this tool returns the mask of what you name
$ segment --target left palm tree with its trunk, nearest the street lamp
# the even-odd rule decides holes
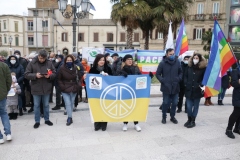
[[[111,0],[114,2],[111,18],[115,23],[127,27],[127,49],[132,47],[133,30],[139,27],[139,20],[150,14],[150,7],[143,0]]]

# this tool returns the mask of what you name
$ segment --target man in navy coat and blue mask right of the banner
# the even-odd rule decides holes
[[[179,83],[182,80],[182,68],[177,56],[175,56],[174,49],[169,48],[166,50],[166,56],[158,65],[156,77],[161,83],[163,94],[162,123],[166,124],[167,109],[171,104],[170,120],[177,124],[175,114],[180,92]]]

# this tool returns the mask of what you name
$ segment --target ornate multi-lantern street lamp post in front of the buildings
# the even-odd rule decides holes
[[[89,0],[71,0],[72,12],[66,11],[68,0],[58,0],[58,7],[64,18],[73,16],[73,52],[76,52],[76,28],[77,18],[83,19],[89,13],[91,2]],[[77,10],[81,6],[81,11]],[[80,9],[79,9],[80,10]]]

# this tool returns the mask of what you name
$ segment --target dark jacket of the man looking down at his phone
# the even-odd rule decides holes
[[[52,71],[49,78],[37,78],[37,73],[47,73],[48,69]],[[31,63],[28,64],[25,71],[25,78],[31,80],[31,93],[33,95],[51,94],[52,81],[55,79],[56,71],[52,62],[48,59],[40,63],[38,57],[33,58]]]

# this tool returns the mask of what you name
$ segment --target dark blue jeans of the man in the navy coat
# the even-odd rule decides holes
[[[163,104],[162,104],[162,116],[167,118],[167,109],[171,105],[170,116],[175,117],[176,107],[178,103],[178,94],[165,94],[163,93]]]

